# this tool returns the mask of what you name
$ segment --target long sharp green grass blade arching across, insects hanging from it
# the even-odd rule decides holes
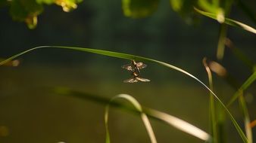
[[[164,65],[167,68],[171,68],[176,71],[180,71],[183,74],[189,76],[190,78],[193,78],[195,81],[198,81],[203,87],[205,87],[209,92],[211,92],[214,95],[215,99],[217,99],[217,102],[220,103],[220,105],[225,109],[226,113],[229,115],[230,120],[232,120],[233,125],[236,127],[236,130],[237,130],[237,132],[239,132],[239,135],[242,138],[242,140],[244,142],[248,142],[248,139],[246,138],[244,132],[242,132],[242,129],[240,128],[239,124],[236,122],[236,120],[234,119],[234,117],[230,113],[230,111],[226,108],[226,105],[224,105],[223,102],[221,102],[221,100],[218,98],[218,96],[208,86],[206,86],[202,81],[200,81],[194,75],[190,74],[188,71],[185,71],[182,68],[178,68],[174,65],[170,65],[166,62],[161,62],[161,61],[158,61],[155,59],[149,59],[149,58],[145,58],[142,56],[135,56],[135,55],[127,54],[127,53],[117,53],[117,52],[112,52],[112,51],[107,51],[107,50],[97,50],[97,49],[83,48],[83,47],[41,46],[41,47],[34,47],[30,50],[26,50],[26,51],[23,51],[22,53],[18,53],[14,56],[11,56],[10,58],[6,59],[5,61],[0,62],[0,65],[5,64],[5,62],[10,61],[11,59],[17,58],[17,56],[21,56],[25,53],[28,53],[32,50],[36,50],[39,48],[62,48],[62,49],[69,49],[69,50],[80,50],[83,52],[96,53],[96,54],[105,55],[105,56],[112,56],[112,57],[116,57],[116,58],[120,58],[120,59],[130,59],[130,60],[134,59],[134,60],[141,60],[141,61],[146,61],[146,62],[155,62],[155,63],[158,63],[159,65]]]

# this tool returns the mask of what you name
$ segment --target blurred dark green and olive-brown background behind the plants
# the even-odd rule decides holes
[[[231,17],[255,26],[242,11],[233,9]],[[142,19],[124,17],[121,2],[110,0],[87,0],[70,13],[57,6],[47,6],[33,30],[11,20],[8,8],[0,9],[0,17],[1,58],[41,45],[92,47],[168,62],[186,69],[204,83],[208,83],[208,78],[201,60],[204,56],[215,59],[220,28],[208,18],[196,23],[183,20],[172,11],[167,0],[161,0],[158,10]],[[255,62],[254,34],[229,27],[228,37]],[[148,67],[142,70],[142,77],[151,82],[125,84],[123,80],[130,78],[130,74],[120,66],[130,61],[123,59],[41,49],[19,60],[17,67],[0,67],[2,143],[105,141],[105,105],[60,96],[48,87],[69,87],[109,98],[128,93],[142,105],[180,117],[208,132],[208,91],[177,71],[146,63]],[[240,83],[250,75],[250,70],[228,49],[222,63]],[[223,102],[235,92],[215,75],[214,88]],[[255,84],[251,85],[245,96],[252,120],[256,118],[252,96],[255,89]],[[238,105],[233,105],[231,111],[242,126]],[[158,142],[203,142],[156,120],[151,123]],[[113,109],[109,126],[113,142],[149,142],[145,127],[136,115]],[[255,132],[254,128],[254,140]],[[227,142],[242,142],[229,119],[225,135]]]

